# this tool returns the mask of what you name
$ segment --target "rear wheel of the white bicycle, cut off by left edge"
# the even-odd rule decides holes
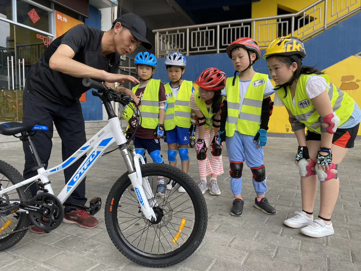
[[[0,161],[0,207],[6,208],[8,204],[18,202],[25,203],[32,198],[27,186],[21,186],[16,190],[2,194],[1,190],[13,184],[23,181],[22,175],[11,165]],[[30,219],[25,212],[13,212],[7,216],[0,216],[0,251],[12,247],[24,237]]]

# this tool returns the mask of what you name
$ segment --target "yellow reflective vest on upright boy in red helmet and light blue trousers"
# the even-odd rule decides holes
[[[243,135],[256,135],[261,126],[262,101],[266,89],[268,75],[256,73],[243,98],[239,112],[239,80],[236,78],[234,86],[233,77],[227,78],[227,120],[226,136],[233,136],[236,130]]]

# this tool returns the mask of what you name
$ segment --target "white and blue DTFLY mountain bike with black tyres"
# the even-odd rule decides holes
[[[116,143],[128,171],[114,183],[105,202],[105,224],[110,239],[123,255],[140,265],[166,267],[183,261],[197,249],[206,232],[207,206],[201,191],[180,169],[167,164],[145,164],[134,148],[128,148],[129,140],[110,102],[129,106],[134,103],[130,96],[89,78],[84,79],[83,84],[97,89],[92,94],[104,104],[109,116],[108,124],[55,167],[44,168],[32,141],[34,133],[42,133],[47,127],[25,126],[17,122],[0,125],[0,134],[14,135],[28,143],[36,162],[33,170],[38,172],[35,177],[24,180],[15,168],[0,161],[0,250],[18,243],[31,225],[47,232],[57,228],[64,217],[64,206],[96,214],[101,208],[100,198],[90,200],[89,207],[68,203],[66,199],[98,159],[106,154],[105,151]],[[137,110],[135,105],[133,108]],[[84,155],[87,158],[55,196],[48,177]],[[171,178],[186,192],[167,191],[164,198],[156,198],[157,176]],[[39,188],[34,197],[28,189],[33,182]],[[135,191],[131,190],[132,187]]]

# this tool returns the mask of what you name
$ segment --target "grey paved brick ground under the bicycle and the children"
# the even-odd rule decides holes
[[[166,156],[166,145],[162,145]],[[332,217],[335,234],[323,238],[302,235],[299,229],[283,226],[286,218],[301,208],[300,178],[293,159],[295,138],[269,137],[265,148],[268,175],[267,197],[277,209],[269,216],[253,207],[255,193],[249,168],[243,171],[242,217],[229,215],[232,194],[225,173],[219,178],[220,196],[205,194],[208,228],[198,250],[170,270],[361,270],[361,138],[356,141],[339,167],[340,194]],[[60,162],[59,143],[55,143],[50,165]],[[195,154],[190,150],[189,175],[199,181]],[[22,148],[0,149],[0,159],[23,169]],[[223,156],[228,167],[226,151]],[[125,171],[119,152],[103,157],[87,179],[88,198],[100,196],[105,201],[112,184]],[[51,179],[59,191],[64,185],[61,174]],[[318,213],[319,196],[315,214]],[[30,231],[7,251],[0,252],[0,270],[154,270],[134,264],[112,244],[104,224],[104,211],[96,214],[99,226],[83,229],[62,224],[49,234]]]

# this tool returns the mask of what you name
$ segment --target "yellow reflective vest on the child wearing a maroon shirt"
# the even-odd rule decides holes
[[[159,123],[159,86],[160,80],[151,79],[143,92],[140,105],[140,120],[143,128],[155,129]],[[132,91],[135,93],[138,87],[139,85],[135,86]],[[127,106],[123,112],[123,117],[127,121],[133,116],[131,106]]]

